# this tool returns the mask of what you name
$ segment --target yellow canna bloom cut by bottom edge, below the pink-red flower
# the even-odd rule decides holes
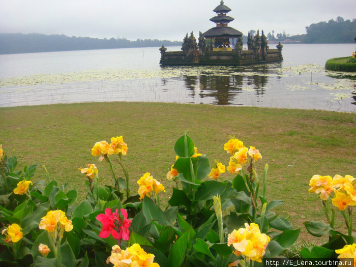
[[[107,258],[106,264],[112,263],[114,267],[144,266],[159,267],[153,262],[155,255],[146,253],[138,244],[133,244],[125,251],[118,245],[112,247],[111,255]]]

